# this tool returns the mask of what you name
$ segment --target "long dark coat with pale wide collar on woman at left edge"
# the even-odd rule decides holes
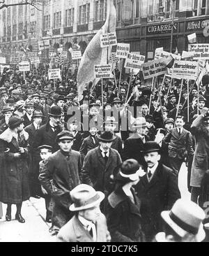
[[[9,128],[0,135],[0,201],[5,204],[20,204],[29,199],[28,138],[26,131],[22,131],[17,141]],[[24,148],[24,153],[15,158],[19,147]]]

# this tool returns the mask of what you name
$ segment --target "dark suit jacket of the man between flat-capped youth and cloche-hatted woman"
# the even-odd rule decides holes
[[[110,148],[107,164],[104,162],[100,146],[88,152],[82,167],[82,182],[95,190],[109,192],[112,190],[110,176],[122,163],[118,151]]]

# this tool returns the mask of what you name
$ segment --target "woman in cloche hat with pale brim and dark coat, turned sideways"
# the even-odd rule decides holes
[[[107,227],[112,242],[141,242],[141,201],[132,186],[139,182],[144,171],[135,159],[127,159],[112,177],[115,182],[114,192],[108,197]]]

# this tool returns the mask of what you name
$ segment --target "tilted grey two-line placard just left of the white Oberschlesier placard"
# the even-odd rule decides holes
[[[141,69],[145,80],[167,73],[167,67],[164,64],[164,59],[155,59],[151,62],[146,62],[141,65]]]

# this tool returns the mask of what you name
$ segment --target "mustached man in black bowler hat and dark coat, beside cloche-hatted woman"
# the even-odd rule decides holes
[[[160,213],[171,209],[180,198],[177,177],[171,169],[159,163],[160,150],[160,145],[154,141],[145,143],[145,175],[135,186],[141,199],[142,229],[146,241],[152,241],[155,234],[161,231]]]

